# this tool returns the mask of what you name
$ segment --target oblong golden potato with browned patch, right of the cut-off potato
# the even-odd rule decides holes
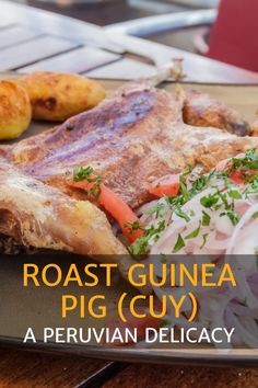
[[[19,82],[27,90],[35,119],[62,122],[105,98],[98,82],[78,75],[40,71],[24,76]]]

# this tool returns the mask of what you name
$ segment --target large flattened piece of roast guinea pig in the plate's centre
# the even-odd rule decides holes
[[[67,186],[66,171],[92,166],[136,208],[150,198],[154,180],[199,162],[211,168],[258,146],[255,137],[185,124],[185,101],[180,88],[169,94],[145,82],[129,84],[96,109],[0,152],[26,174],[80,198],[84,193]]]

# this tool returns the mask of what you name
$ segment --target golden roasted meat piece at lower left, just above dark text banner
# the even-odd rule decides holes
[[[0,159],[0,230],[24,246],[80,254],[126,253],[103,212]]]

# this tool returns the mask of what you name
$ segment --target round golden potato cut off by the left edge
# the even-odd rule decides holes
[[[0,139],[19,137],[31,119],[32,106],[26,90],[14,81],[0,81]]]

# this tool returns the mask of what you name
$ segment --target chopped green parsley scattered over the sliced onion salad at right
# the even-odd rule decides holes
[[[183,206],[197,194],[202,193],[206,189],[212,189],[210,194],[204,194],[200,197],[200,204],[206,209],[210,209],[209,214],[202,208],[199,226],[188,233],[186,237],[178,235],[177,241],[173,249],[176,253],[185,247],[185,240],[197,238],[200,235],[202,227],[208,227],[211,224],[211,212],[220,210],[220,216],[230,218],[233,226],[237,225],[239,217],[235,212],[235,203],[237,199],[247,197],[248,195],[258,196],[258,152],[257,149],[246,152],[244,158],[232,158],[223,171],[213,169],[209,174],[194,171],[189,168],[180,174],[180,194],[175,197],[164,197],[156,203],[146,215],[154,215],[155,218],[163,219],[163,222],[151,225],[144,236],[133,243],[134,252],[148,252],[150,240],[157,241],[161,232],[166,226],[173,222],[172,215],[185,219],[187,222],[196,216],[192,209],[185,212]],[[239,185],[238,185],[239,183]],[[243,184],[246,187],[243,186]],[[165,220],[164,220],[165,218]],[[258,218],[258,212],[253,215],[253,218]],[[184,233],[184,232],[181,232]],[[202,235],[203,242],[200,248],[203,248],[208,241],[208,233]]]

